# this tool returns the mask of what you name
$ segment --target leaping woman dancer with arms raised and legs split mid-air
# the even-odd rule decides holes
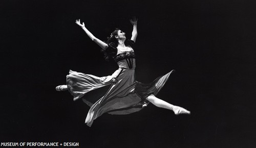
[[[59,85],[57,91],[69,90],[74,96],[74,101],[82,98],[83,102],[91,108],[86,117],[86,124],[91,127],[93,120],[103,113],[109,114],[130,114],[145,108],[148,103],[174,111],[176,115],[190,114],[186,109],[169,104],[156,94],[168,80],[171,73],[158,77],[153,82],[143,84],[135,81],[135,53],[134,44],[137,38],[137,19],[130,22],[133,25],[132,37],[126,40],[126,35],[119,29],[111,33],[106,42],[96,38],[80,19],[76,20],[84,32],[102,48],[106,60],[114,60],[119,68],[111,75],[96,77],[81,72],[70,70],[67,75],[67,85]],[[102,93],[101,98],[87,98],[86,93],[94,89],[111,85],[107,92]]]

